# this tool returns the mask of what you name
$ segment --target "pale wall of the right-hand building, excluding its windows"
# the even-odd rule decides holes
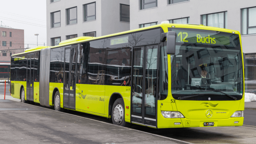
[[[158,7],[139,10],[139,0],[130,1],[130,29],[139,24],[190,17],[190,24],[201,24],[201,15],[227,11],[227,29],[241,32],[241,9],[256,6],[255,0],[190,0],[168,5],[167,0],[158,0]],[[242,36],[244,53],[256,52],[253,40],[256,35]]]

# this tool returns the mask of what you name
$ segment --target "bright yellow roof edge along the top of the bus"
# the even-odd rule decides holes
[[[152,29],[152,28],[157,28],[157,27],[161,27],[164,32],[168,31],[168,27],[173,27],[173,28],[175,27],[175,28],[190,28],[190,29],[222,31],[222,32],[235,33],[235,34],[239,34],[240,35],[240,32],[236,31],[236,30],[229,30],[229,29],[216,28],[216,27],[208,27],[208,26],[204,26],[204,25],[193,25],[193,24],[158,24],[158,25],[154,25],[154,26],[149,26],[149,27],[144,27],[144,28],[139,28],[139,29],[133,29],[133,30],[118,32],[118,33],[114,33],[114,34],[103,35],[101,37],[78,37],[78,38],[73,38],[73,39],[61,41],[59,43],[59,45],[56,45],[56,46],[38,46],[38,47],[29,48],[25,52],[19,53],[19,54],[24,54],[24,53],[27,53],[27,52],[40,51],[40,49],[46,48],[46,47],[55,48],[55,47],[59,47],[59,46],[65,46],[65,45],[70,45],[70,44],[75,44],[75,43],[82,43],[82,42],[86,42],[86,41],[103,39],[103,38],[107,38],[107,37],[114,37],[114,36],[118,36],[118,35],[121,35],[121,34],[126,34],[126,33],[146,30],[146,29]],[[19,55],[19,54],[14,54],[12,56]]]

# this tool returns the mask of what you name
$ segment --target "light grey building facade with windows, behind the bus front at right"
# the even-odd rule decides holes
[[[170,23],[203,24],[240,31],[243,53],[256,53],[255,0],[132,0],[130,29]]]

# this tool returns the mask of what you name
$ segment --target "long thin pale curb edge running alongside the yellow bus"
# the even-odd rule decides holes
[[[11,101],[15,101],[15,100],[11,100]],[[18,101],[15,101],[15,102],[18,102]],[[20,103],[21,103],[21,102],[20,102]],[[23,103],[23,104],[28,104],[28,103]],[[28,104],[28,105],[32,105],[32,104]],[[37,106],[37,105],[32,105],[32,106]],[[37,107],[41,107],[41,106],[37,106]],[[45,108],[45,107],[41,107],[41,108],[47,109],[47,108]],[[69,114],[69,113],[64,113],[64,112],[55,111],[55,110],[52,110],[52,109],[47,109],[47,110],[51,110],[51,111],[58,112],[58,113],[63,113],[63,114],[68,114],[68,115],[72,115],[72,116],[77,116],[77,115],[73,115],[73,114]],[[90,118],[82,117],[82,116],[77,116],[77,117],[81,117],[81,118],[85,118],[85,119],[90,119]],[[103,121],[99,121],[99,120],[95,120],[95,119],[90,119],[90,120],[98,121],[98,122],[104,123],[104,124],[113,125],[113,126],[116,126],[116,127],[126,128],[126,127],[117,126],[117,125],[110,124],[110,123],[105,123],[105,122],[103,122]],[[169,140],[173,140],[173,141],[178,141],[178,142],[187,143],[187,144],[193,144],[193,143],[190,143],[190,142],[186,142],[186,141],[182,141],[182,140],[177,140],[177,139],[173,139],[173,138],[168,138],[168,137],[166,137],[166,136],[161,136],[161,135],[157,135],[157,134],[153,134],[153,133],[149,133],[149,132],[144,132],[144,131],[140,131],[140,130],[136,130],[136,129],[131,129],[131,128],[126,128],[126,129],[134,130],[134,131],[139,131],[139,132],[146,133],[146,134],[150,134],[150,135],[159,136],[159,137],[161,137],[161,138],[165,138],[165,139],[169,139]]]

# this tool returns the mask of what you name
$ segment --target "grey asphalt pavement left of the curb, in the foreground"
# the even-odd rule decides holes
[[[0,143],[186,143],[102,121],[0,100]]]

